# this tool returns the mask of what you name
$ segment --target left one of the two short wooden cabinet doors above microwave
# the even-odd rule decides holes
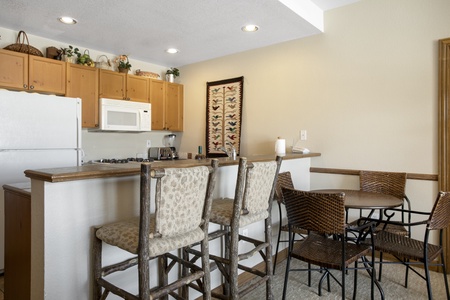
[[[125,73],[100,70],[99,97],[110,99],[125,99]]]

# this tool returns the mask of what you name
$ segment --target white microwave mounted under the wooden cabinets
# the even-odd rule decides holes
[[[150,103],[100,98],[101,131],[151,131]]]

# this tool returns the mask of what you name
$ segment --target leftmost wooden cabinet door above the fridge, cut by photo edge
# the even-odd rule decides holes
[[[28,89],[28,54],[0,49],[0,86]]]

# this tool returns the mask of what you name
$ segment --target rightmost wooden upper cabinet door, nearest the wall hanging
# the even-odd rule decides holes
[[[183,85],[166,84],[165,127],[170,131],[183,131]]]

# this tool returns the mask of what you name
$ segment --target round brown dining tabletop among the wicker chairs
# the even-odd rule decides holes
[[[386,209],[394,208],[403,204],[403,199],[397,197],[365,192],[360,190],[345,190],[345,189],[324,189],[313,190],[315,193],[344,193],[345,194],[345,208],[356,209]]]

